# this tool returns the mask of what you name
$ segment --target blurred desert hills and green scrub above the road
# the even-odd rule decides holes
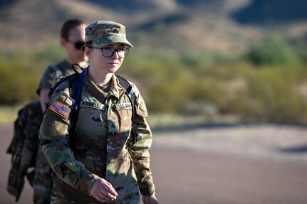
[[[24,104],[63,59],[67,18],[123,23],[120,75],[152,113],[307,124],[307,4],[303,0],[0,1],[0,104]]]

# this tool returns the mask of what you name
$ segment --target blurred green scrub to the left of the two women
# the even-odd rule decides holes
[[[63,58],[58,42],[46,50],[0,52],[0,104],[19,104],[36,97],[36,87],[50,63]]]

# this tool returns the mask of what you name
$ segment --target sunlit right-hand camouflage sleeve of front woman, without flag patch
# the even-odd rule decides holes
[[[132,129],[137,136],[135,147],[130,149],[133,159],[137,182],[139,183],[142,195],[152,195],[155,193],[155,185],[150,170],[150,146],[152,144],[152,132],[147,123],[147,108],[137,87],[134,86],[136,95],[136,114],[132,124]]]

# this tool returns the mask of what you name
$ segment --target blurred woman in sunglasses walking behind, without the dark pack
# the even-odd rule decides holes
[[[85,27],[85,23],[78,19],[71,19],[63,23],[60,43],[66,51],[66,57],[61,63],[50,65],[46,69],[36,90],[41,102],[42,112],[45,111],[45,103],[48,102],[48,92],[51,90],[51,87],[56,85],[61,78],[75,73],[73,64],[78,63],[80,66],[86,65],[87,58],[83,53],[85,46]],[[42,203],[46,195],[50,193],[51,178],[49,166],[41,148],[38,148],[35,169],[36,173],[33,179],[34,203]]]

